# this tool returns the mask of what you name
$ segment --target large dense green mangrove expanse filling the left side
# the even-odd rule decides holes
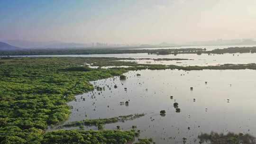
[[[68,118],[67,102],[93,90],[89,81],[127,72],[77,67],[84,61],[72,58],[1,58],[0,62],[0,144],[44,144],[50,135],[45,133],[47,126]]]

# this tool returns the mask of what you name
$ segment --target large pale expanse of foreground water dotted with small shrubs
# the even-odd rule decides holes
[[[95,87],[105,89],[76,96],[68,103],[73,109],[65,123],[146,113],[104,127],[128,130],[137,126],[141,137],[152,137],[156,144],[183,144],[184,138],[187,144],[198,144],[198,135],[211,131],[256,134],[254,70],[142,70],[125,75],[125,81],[119,77],[93,81]],[[120,105],[124,101],[129,104]],[[161,110],[165,115],[160,115]],[[79,127],[68,129],[72,128]]]

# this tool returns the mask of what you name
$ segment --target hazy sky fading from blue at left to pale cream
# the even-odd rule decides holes
[[[0,0],[0,40],[160,43],[256,38],[256,0]]]

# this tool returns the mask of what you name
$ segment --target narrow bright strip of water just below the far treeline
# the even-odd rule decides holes
[[[134,60],[139,64],[174,64],[181,66],[188,65],[219,65],[225,63],[231,64],[247,64],[247,63],[256,63],[256,53],[255,54],[169,54],[169,55],[156,55],[156,54],[69,54],[69,55],[25,55],[23,57],[119,57],[119,58],[183,58],[183,59],[193,59],[192,60],[183,60],[183,61],[154,61],[154,60]]]

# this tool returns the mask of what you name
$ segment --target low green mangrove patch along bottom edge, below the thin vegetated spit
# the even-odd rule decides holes
[[[46,133],[41,144],[127,144],[134,138],[134,130],[56,130]]]

